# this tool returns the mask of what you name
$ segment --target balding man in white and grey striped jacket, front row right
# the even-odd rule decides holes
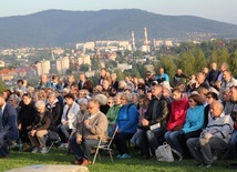
[[[198,166],[210,168],[214,163],[212,150],[225,150],[231,138],[234,122],[230,115],[225,115],[223,104],[214,101],[210,104],[213,118],[209,119],[199,138],[187,140],[187,146],[197,161]]]

